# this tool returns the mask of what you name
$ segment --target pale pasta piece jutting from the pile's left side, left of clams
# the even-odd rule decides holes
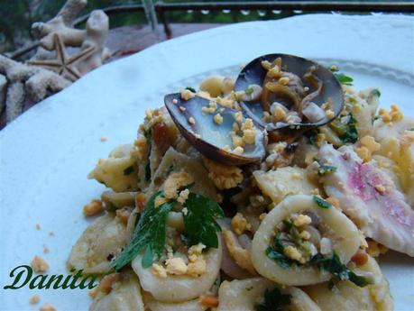
[[[97,166],[87,175],[87,178],[97,179],[116,192],[136,190],[137,158],[131,152],[133,149],[131,144],[117,147],[109,154],[109,158],[98,160]]]

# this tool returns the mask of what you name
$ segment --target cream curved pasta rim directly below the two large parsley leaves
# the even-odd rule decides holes
[[[204,258],[207,269],[199,277],[170,274],[166,278],[155,276],[151,268],[143,268],[143,254],[135,257],[132,266],[141,281],[141,286],[150,292],[152,297],[162,302],[183,302],[207,292],[215,283],[222,259],[221,244],[217,249],[209,249]]]

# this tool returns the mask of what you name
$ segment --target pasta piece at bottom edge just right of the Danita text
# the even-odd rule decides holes
[[[123,279],[113,284],[109,294],[99,293],[89,311],[144,311],[141,287],[133,273],[125,273]]]

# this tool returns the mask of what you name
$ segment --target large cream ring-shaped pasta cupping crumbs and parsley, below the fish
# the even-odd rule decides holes
[[[338,253],[343,263],[350,261],[358,250],[360,246],[358,229],[344,214],[333,206],[329,208],[317,206],[312,196],[292,195],[285,197],[266,215],[254,234],[252,245],[254,268],[263,277],[284,285],[310,285],[330,279],[331,275],[326,270],[319,270],[317,266],[293,264],[290,267],[281,268],[276,261],[266,255],[274,229],[287,216],[295,213],[312,213],[320,218],[324,234],[330,239],[332,249]]]

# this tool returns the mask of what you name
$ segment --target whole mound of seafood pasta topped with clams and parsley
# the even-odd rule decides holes
[[[395,105],[376,114],[380,91],[347,82],[344,106],[321,103],[314,67],[299,77],[268,57],[252,70],[262,83],[237,79],[235,89],[234,78],[212,76],[199,91],[166,96],[145,112],[133,144],[90,172],[107,189],[85,215],[106,214],[68,261],[106,274],[90,311],[393,309],[368,254],[413,256],[414,120]],[[317,120],[324,125],[272,130]],[[207,133],[228,133],[225,145],[199,146]]]

